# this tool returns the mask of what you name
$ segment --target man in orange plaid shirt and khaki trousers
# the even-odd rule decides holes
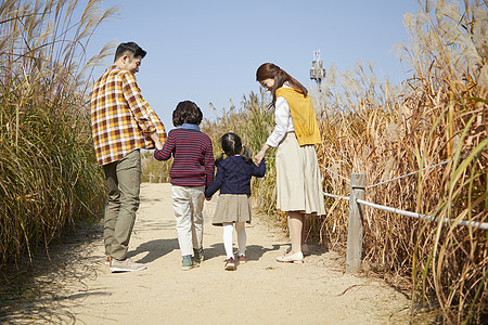
[[[166,140],[165,127],[141,95],[134,77],[145,54],[134,42],[119,44],[114,65],[90,94],[97,160],[103,166],[108,194],[103,237],[105,263],[112,272],[145,269],[127,258],[139,208],[140,150],[160,150]]]

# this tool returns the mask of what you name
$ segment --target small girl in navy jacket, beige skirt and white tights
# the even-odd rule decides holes
[[[251,177],[262,178],[266,172],[265,159],[257,167],[251,159],[251,152],[242,146],[241,138],[235,133],[226,133],[220,139],[223,153],[215,160],[217,174],[214,183],[205,191],[209,199],[219,188],[220,196],[215,211],[213,224],[223,226],[223,247],[227,259],[224,269],[235,270],[234,253],[232,251],[232,234],[237,233],[240,263],[246,262],[246,231],[245,222],[251,223]],[[223,159],[223,154],[228,158]]]

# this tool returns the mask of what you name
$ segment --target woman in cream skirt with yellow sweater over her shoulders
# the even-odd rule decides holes
[[[273,95],[275,127],[256,155],[259,164],[271,147],[277,150],[277,208],[288,217],[292,248],[280,262],[301,263],[305,216],[325,214],[322,180],[314,144],[321,143],[319,126],[307,89],[272,63],[262,64],[256,80]]]

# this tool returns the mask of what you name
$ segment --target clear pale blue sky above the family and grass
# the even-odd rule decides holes
[[[243,95],[259,91],[256,69],[265,62],[312,87],[314,50],[325,68],[346,70],[361,61],[393,82],[411,74],[393,47],[408,43],[402,18],[419,11],[416,0],[105,0],[103,5],[117,4],[118,16],[97,29],[88,54],[110,41],[136,41],[146,50],[138,83],[167,130],[183,100],[195,102],[209,119],[209,103],[218,112],[229,108],[230,100],[239,107]]]

